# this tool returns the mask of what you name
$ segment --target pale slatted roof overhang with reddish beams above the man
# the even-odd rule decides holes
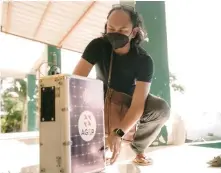
[[[1,31],[82,52],[119,1],[3,1]]]

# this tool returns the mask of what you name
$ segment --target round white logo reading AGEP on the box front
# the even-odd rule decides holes
[[[84,141],[91,141],[96,134],[96,119],[92,112],[84,111],[78,120],[78,131]]]

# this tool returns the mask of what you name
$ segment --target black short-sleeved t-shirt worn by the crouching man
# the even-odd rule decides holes
[[[97,79],[104,82],[105,90],[108,83],[111,53],[111,44],[101,37],[92,40],[82,56],[95,65]],[[136,81],[151,82],[153,71],[153,60],[141,47],[132,47],[124,55],[113,53],[110,87],[132,96]]]

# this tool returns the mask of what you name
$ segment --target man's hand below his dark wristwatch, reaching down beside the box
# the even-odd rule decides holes
[[[121,139],[121,137],[117,136],[116,134],[111,133],[111,135],[108,136],[107,140],[108,140],[108,143],[110,146],[110,150],[113,153],[112,157],[110,159],[110,164],[113,164],[117,160],[117,157],[120,154],[122,139]]]

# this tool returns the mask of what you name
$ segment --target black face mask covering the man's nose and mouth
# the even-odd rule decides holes
[[[105,35],[105,37],[111,43],[113,49],[122,48],[129,42],[128,36],[126,36],[124,34],[117,33],[117,32],[107,33]]]

